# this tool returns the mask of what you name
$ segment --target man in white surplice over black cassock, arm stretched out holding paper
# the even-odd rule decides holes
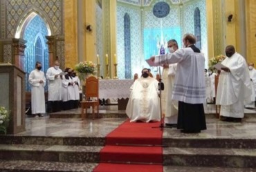
[[[179,101],[177,128],[183,133],[200,133],[206,129],[205,113],[205,58],[194,44],[196,38],[192,34],[183,36],[185,48],[172,54],[151,57],[156,65],[176,64],[172,99]]]

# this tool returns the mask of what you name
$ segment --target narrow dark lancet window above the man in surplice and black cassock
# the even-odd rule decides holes
[[[194,10],[194,36],[196,37],[196,46],[201,50],[201,17],[200,10],[197,7]]]

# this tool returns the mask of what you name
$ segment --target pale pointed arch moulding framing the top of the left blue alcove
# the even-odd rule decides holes
[[[24,37],[24,30],[26,26],[30,23],[30,21],[35,17],[39,16],[44,20],[44,23],[46,24],[46,28],[48,30],[48,36],[53,35],[53,23],[51,22],[51,19],[48,18],[48,15],[39,8],[28,8],[28,10],[24,11],[21,14],[21,17],[19,18],[17,22],[17,26],[15,28],[15,38],[23,38]]]

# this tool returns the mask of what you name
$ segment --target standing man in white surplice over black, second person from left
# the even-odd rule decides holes
[[[48,112],[61,111],[62,70],[59,61],[56,60],[55,66],[48,68],[46,79],[48,79]]]

